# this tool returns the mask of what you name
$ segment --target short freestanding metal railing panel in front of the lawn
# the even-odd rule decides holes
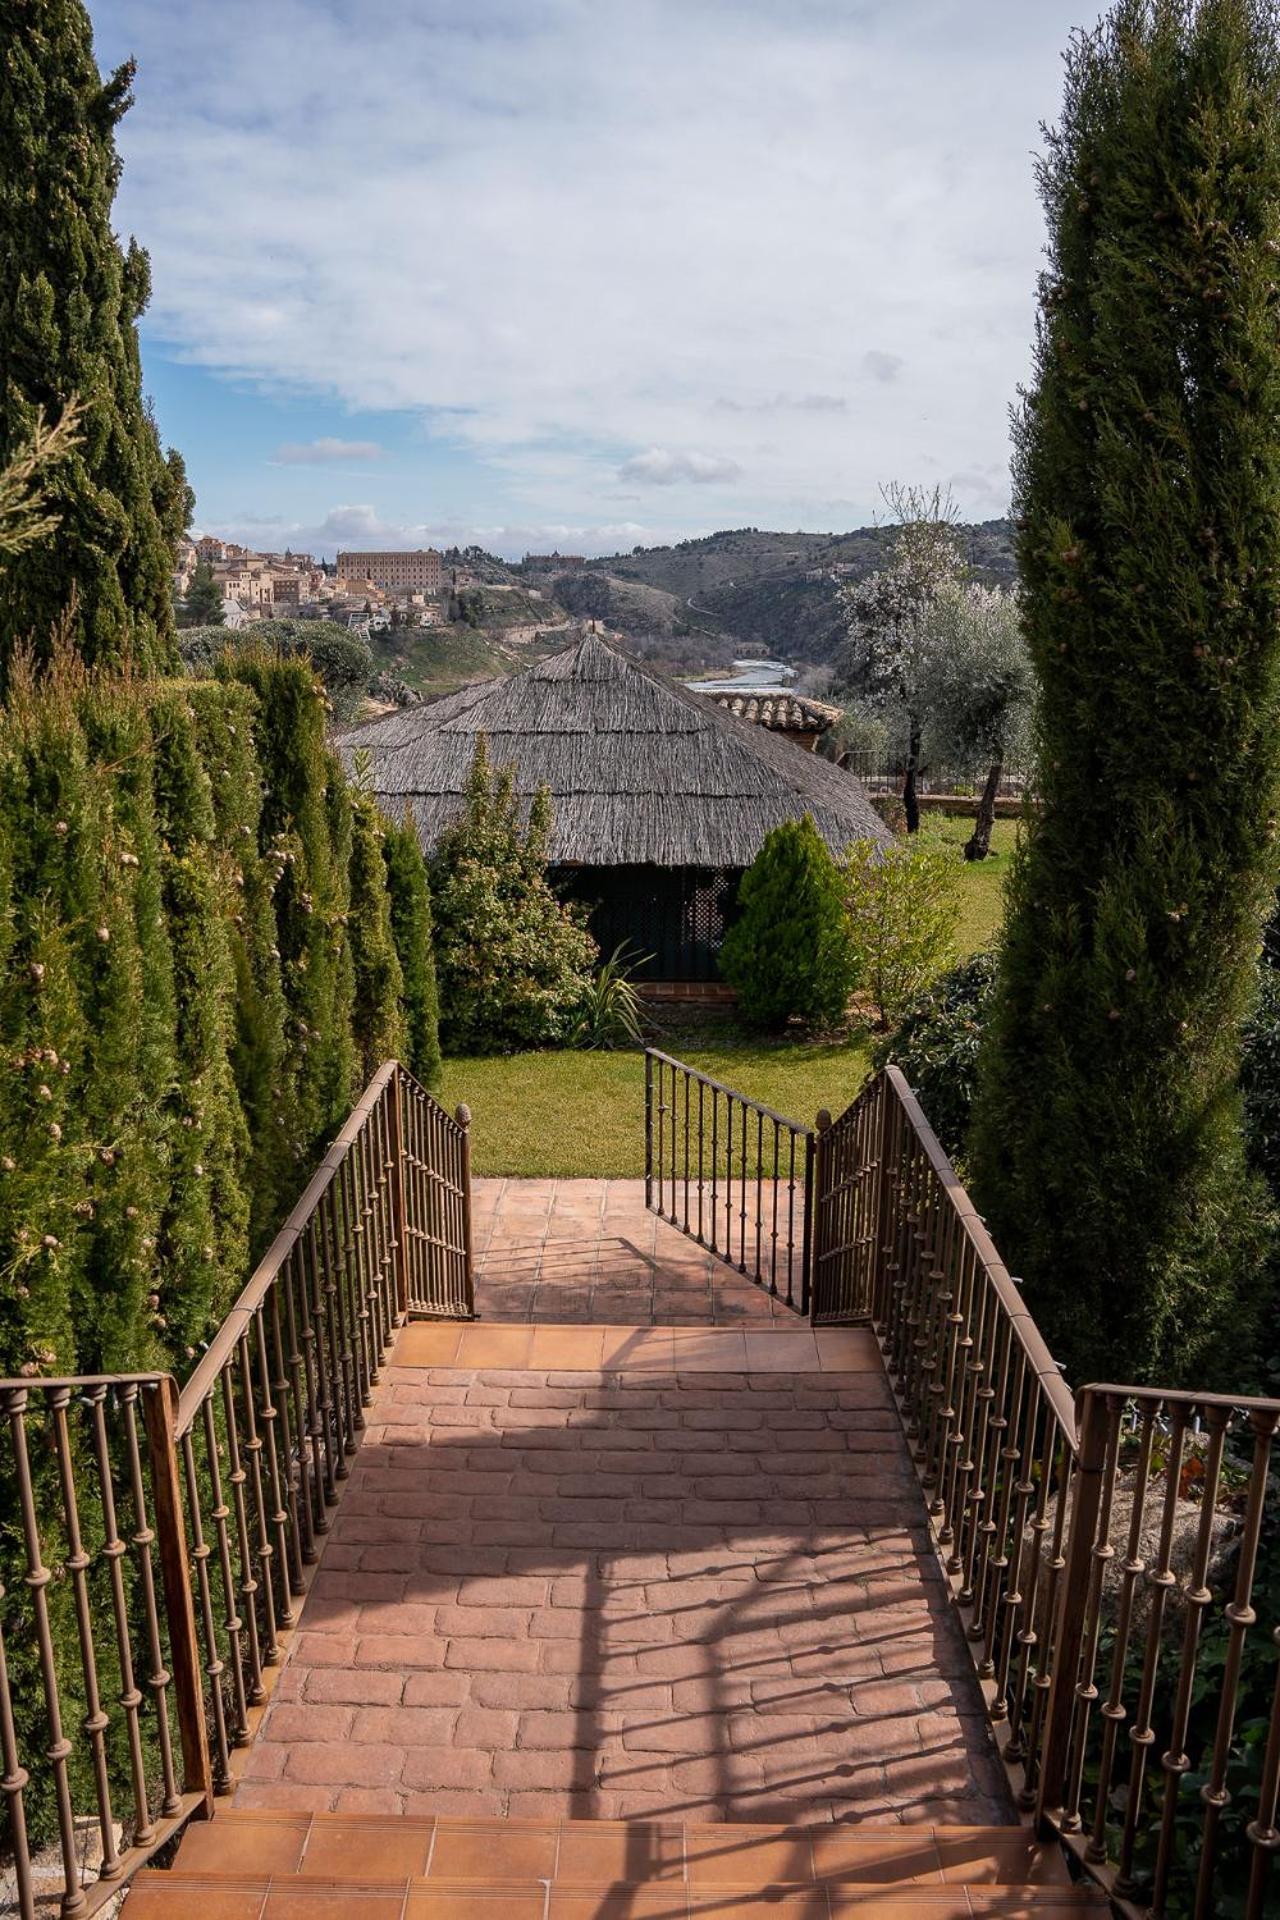
[[[800,1313],[812,1187],[810,1127],[645,1048],[645,1206]]]

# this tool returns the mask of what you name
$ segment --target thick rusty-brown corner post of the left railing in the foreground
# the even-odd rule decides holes
[[[182,1747],[182,1791],[200,1793],[198,1818],[213,1814],[213,1764],[205,1726],[203,1665],[196,1638],[192,1567],[186,1551],[186,1517],[178,1480],[178,1388],[165,1375],[144,1398],[146,1446],[155,1511],[155,1546],[165,1592],[165,1624],[173,1663],[173,1695]]]

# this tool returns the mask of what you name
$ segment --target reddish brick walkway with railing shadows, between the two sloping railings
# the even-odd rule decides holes
[[[869,1336],[482,1332],[401,1336],[236,1805],[1013,1820]]]

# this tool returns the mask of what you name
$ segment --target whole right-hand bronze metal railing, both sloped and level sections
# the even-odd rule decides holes
[[[841,1125],[841,1246],[864,1273],[873,1213],[873,1325],[1019,1805],[1128,1914],[1263,1920],[1280,1620],[1253,1601],[1280,1402],[1073,1400],[902,1073]],[[1245,1668],[1267,1701],[1242,1738]]]

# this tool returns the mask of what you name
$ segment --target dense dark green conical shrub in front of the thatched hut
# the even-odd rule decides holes
[[[766,1031],[789,1020],[837,1025],[854,972],[841,872],[812,814],[766,833],[737,900],[720,972],[737,991],[743,1020]]]

